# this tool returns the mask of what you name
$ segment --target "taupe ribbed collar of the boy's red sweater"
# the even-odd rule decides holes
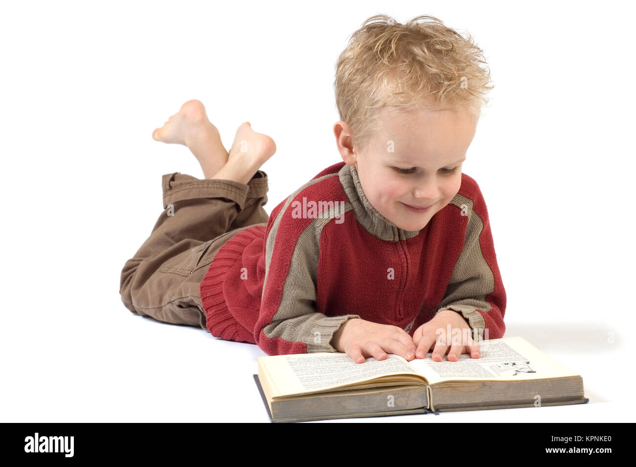
[[[343,165],[342,169],[338,171],[338,178],[340,178],[342,188],[344,188],[345,193],[347,193],[347,198],[349,198],[349,202],[353,207],[357,221],[367,232],[371,233],[371,235],[381,240],[397,242],[397,240],[406,240],[410,237],[415,237],[415,235],[420,233],[419,230],[404,230],[403,228],[399,228],[382,216],[382,214],[378,213],[364,194],[355,165]]]

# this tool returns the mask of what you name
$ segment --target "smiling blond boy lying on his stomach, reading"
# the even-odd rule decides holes
[[[273,140],[245,122],[228,155],[186,102],[153,138],[188,146],[205,179],[163,176],[165,211],[122,270],[125,305],[269,355],[479,358],[506,308],[486,204],[461,172],[490,89],[480,57],[433,17],[366,20],[336,67],[343,162],[271,216],[259,167]]]

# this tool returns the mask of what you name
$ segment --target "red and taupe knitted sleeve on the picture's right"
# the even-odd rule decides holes
[[[501,281],[485,201],[475,185],[474,201],[465,198],[467,225],[464,247],[438,310],[460,313],[473,330],[473,338],[497,339],[504,335],[506,291]]]

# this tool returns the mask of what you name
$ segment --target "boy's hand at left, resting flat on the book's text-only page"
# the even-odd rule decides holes
[[[389,358],[387,352],[407,360],[415,358],[413,339],[402,328],[360,318],[347,319],[333,333],[331,345],[338,352],[345,352],[356,363],[363,363],[366,357],[385,360]]]

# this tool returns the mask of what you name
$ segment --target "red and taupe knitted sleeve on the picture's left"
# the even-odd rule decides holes
[[[337,352],[333,334],[359,316],[326,316],[316,310],[319,240],[329,219],[293,218],[286,208],[268,222],[256,343],[268,355]]]

